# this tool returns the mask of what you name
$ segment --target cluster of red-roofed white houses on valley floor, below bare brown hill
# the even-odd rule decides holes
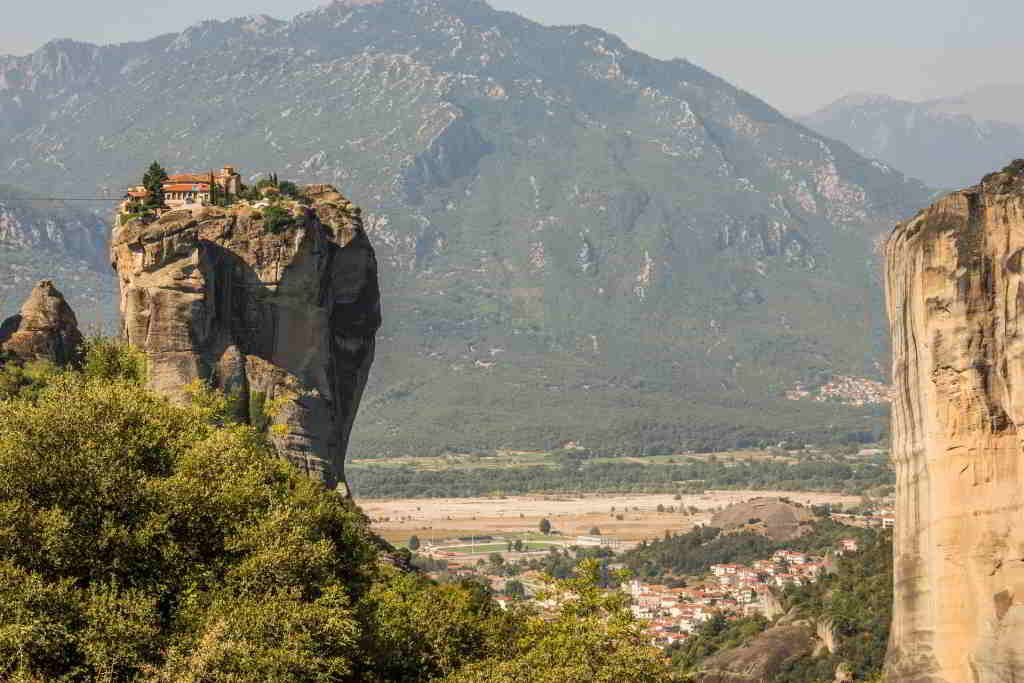
[[[842,540],[837,555],[858,552],[854,539]],[[776,551],[771,558],[744,564],[715,564],[703,585],[669,588],[632,581],[623,588],[632,599],[637,618],[647,622],[646,635],[655,645],[683,642],[715,614],[726,618],[765,614],[777,602],[774,590],[815,583],[825,571],[824,558],[793,550]]]

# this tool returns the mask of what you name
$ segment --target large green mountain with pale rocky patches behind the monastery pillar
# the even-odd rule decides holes
[[[883,409],[785,396],[887,374],[878,245],[931,197],[689,61],[480,0],[0,57],[0,182],[117,197],[154,159],[365,208],[357,456],[874,437]]]

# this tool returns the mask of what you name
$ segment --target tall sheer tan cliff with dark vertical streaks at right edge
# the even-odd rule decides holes
[[[886,257],[890,680],[1024,680],[1024,162],[899,225]]]

